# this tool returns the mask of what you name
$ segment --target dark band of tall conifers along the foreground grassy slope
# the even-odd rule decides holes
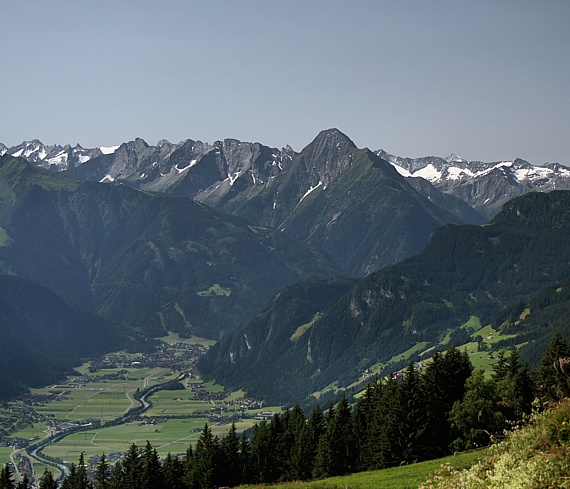
[[[235,425],[215,436],[206,424],[185,456],[161,460],[155,448],[132,444],[112,467],[101,456],[88,474],[83,456],[72,464],[62,489],[198,489],[319,479],[438,458],[489,445],[533,409],[570,395],[565,362],[570,342],[556,333],[538,371],[516,348],[501,351],[486,375],[473,370],[466,352],[436,353],[425,367],[410,363],[399,374],[374,379],[358,399],[343,396],[308,416],[299,405],[238,434]],[[8,466],[0,489],[13,482]],[[40,488],[55,488],[46,470]]]

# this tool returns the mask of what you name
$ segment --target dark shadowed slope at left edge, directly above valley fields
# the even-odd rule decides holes
[[[56,382],[120,339],[94,314],[29,280],[0,275],[0,399]]]

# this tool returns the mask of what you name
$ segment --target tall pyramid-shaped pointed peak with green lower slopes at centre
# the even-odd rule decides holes
[[[252,185],[244,174],[229,191],[220,189],[198,199],[317,245],[351,275],[420,252],[438,226],[466,222],[335,129],[321,132],[266,185]],[[484,222],[474,211],[469,216]]]

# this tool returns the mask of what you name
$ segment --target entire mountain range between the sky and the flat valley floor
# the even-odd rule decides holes
[[[568,194],[529,193],[567,188],[569,175],[405,159],[336,129],[300,153],[232,139],[0,145],[0,277],[33,281],[18,300],[34,311],[49,289],[115,345],[166,331],[221,339],[206,376],[290,401],[570,276]],[[52,374],[109,347],[72,353],[25,314],[0,323],[22,351],[54,342]]]

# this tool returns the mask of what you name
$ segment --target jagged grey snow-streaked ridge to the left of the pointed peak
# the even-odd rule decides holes
[[[212,187],[231,187],[240,177],[255,184],[267,182],[295,152],[235,139],[214,144],[191,139],[156,146],[143,139],[119,146],[85,149],[80,145],[46,146],[37,139],[18,146],[0,146],[0,155],[21,157],[30,163],[65,171],[84,181],[125,183],[142,190],[168,191],[195,197]]]

